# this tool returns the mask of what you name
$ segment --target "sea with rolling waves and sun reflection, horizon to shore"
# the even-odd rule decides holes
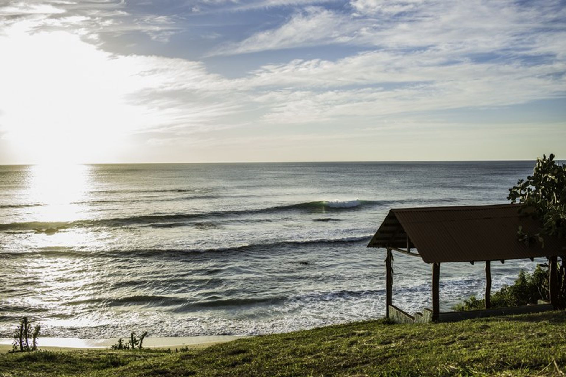
[[[391,207],[505,203],[533,162],[0,166],[0,337],[250,335],[382,317]],[[55,232],[57,230],[57,232]],[[530,261],[492,267],[494,289]],[[430,306],[395,255],[393,302]],[[441,309],[483,263],[443,264]]]

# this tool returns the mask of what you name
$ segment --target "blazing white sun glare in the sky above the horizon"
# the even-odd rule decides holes
[[[75,34],[30,28],[0,35],[2,55],[16,57],[0,71],[3,138],[26,163],[113,159],[124,137],[151,122],[130,99],[144,88],[144,68]]]

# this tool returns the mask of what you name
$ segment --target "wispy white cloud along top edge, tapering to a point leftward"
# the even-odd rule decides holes
[[[525,5],[511,0],[353,0],[351,13],[309,7],[276,28],[257,32],[211,54],[242,54],[313,45],[387,50],[439,48],[479,54],[533,47],[563,33],[566,8],[558,0]]]

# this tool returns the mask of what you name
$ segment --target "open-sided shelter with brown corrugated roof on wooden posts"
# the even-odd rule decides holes
[[[549,262],[550,304],[558,305],[557,257],[566,254],[566,240],[544,236],[544,242],[518,240],[518,228],[533,235],[541,228],[520,205],[450,206],[391,209],[367,245],[387,249],[385,258],[387,317],[401,322],[438,321],[439,275],[443,262],[486,263],[486,309],[490,308],[491,261],[546,257]],[[413,251],[414,250],[414,251]],[[412,317],[392,304],[392,252],[422,258],[432,264],[432,310]],[[541,309],[541,308],[539,308]],[[535,310],[535,308],[528,309]],[[392,312],[395,313],[392,313]],[[448,313],[447,313],[448,314]],[[395,317],[395,318],[394,318]],[[404,318],[405,319],[402,319]],[[454,318],[446,316],[445,320]],[[412,321],[411,321],[412,319]]]

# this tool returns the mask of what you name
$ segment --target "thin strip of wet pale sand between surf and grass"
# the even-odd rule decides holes
[[[211,335],[211,336],[164,336],[146,337],[143,341],[143,348],[204,348],[218,343],[225,343],[246,336],[238,335]],[[127,337],[122,338],[127,341]],[[0,353],[12,350],[14,339],[0,338]],[[59,338],[59,337],[39,337],[37,348],[39,350],[95,350],[111,349],[112,345],[118,343],[118,338],[109,339],[80,339],[80,338]]]

